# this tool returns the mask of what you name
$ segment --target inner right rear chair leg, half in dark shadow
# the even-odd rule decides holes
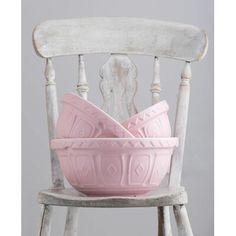
[[[168,206],[158,207],[158,236],[172,236]]]

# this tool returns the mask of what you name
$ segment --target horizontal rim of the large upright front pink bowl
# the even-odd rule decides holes
[[[133,146],[133,148],[143,147],[144,149],[147,147],[178,147],[179,139],[177,137],[163,137],[163,138],[63,138],[63,139],[52,139],[50,141],[50,146],[52,149],[63,149],[66,147],[93,147],[96,144],[105,145],[113,142],[117,144],[117,146],[122,147],[122,144],[125,145],[127,143],[132,144],[137,142],[137,145]],[[138,145],[138,143],[140,145]],[[143,144],[147,146],[142,146]],[[121,145],[121,146],[120,146]],[[114,146],[114,145],[113,145]],[[131,146],[131,145],[130,145]]]

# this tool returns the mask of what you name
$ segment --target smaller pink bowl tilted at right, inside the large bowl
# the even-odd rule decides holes
[[[123,122],[123,126],[135,137],[170,137],[171,127],[167,112],[167,102],[161,101],[135,114]]]

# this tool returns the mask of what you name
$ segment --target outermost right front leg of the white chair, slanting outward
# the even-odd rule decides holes
[[[193,236],[192,228],[188,218],[185,205],[176,205],[173,207],[175,220],[179,236]]]

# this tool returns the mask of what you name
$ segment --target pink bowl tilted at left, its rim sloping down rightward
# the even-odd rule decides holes
[[[56,126],[57,138],[134,137],[120,123],[92,103],[73,93],[62,98]]]

